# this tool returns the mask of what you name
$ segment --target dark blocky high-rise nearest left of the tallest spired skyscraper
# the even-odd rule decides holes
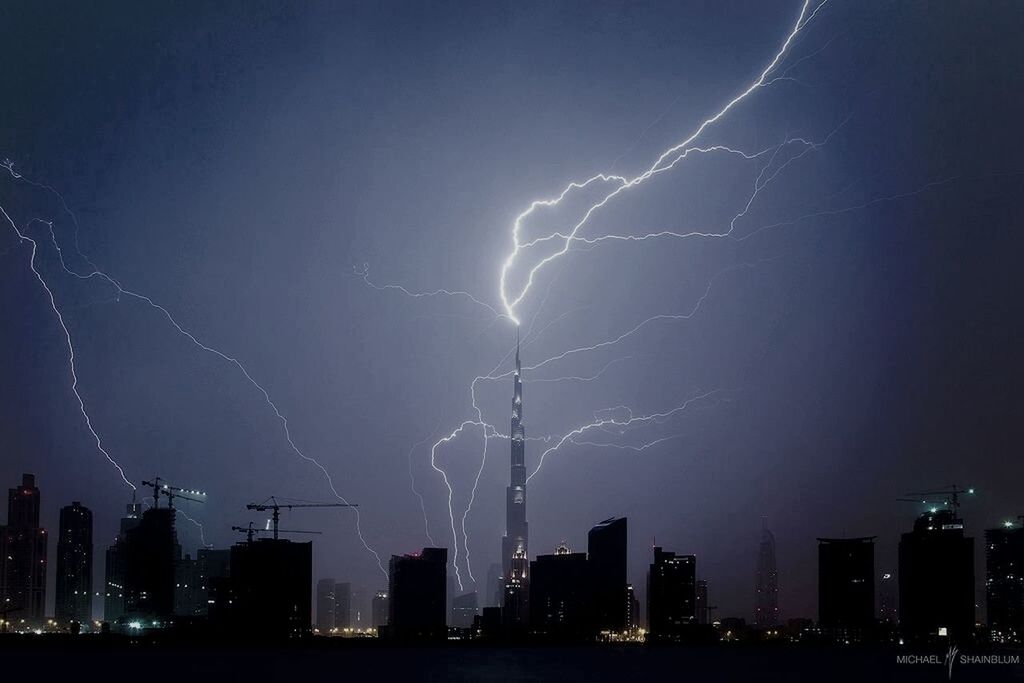
[[[388,633],[402,639],[443,640],[447,635],[447,549],[392,555],[388,571]]]

